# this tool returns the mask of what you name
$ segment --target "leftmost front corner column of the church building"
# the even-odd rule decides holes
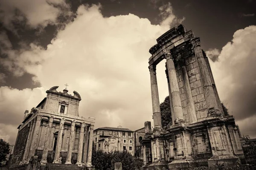
[[[33,133],[33,138],[32,138],[28,159],[30,159],[31,156],[35,155],[35,150],[37,149],[36,144],[38,143],[38,138],[40,136],[39,133],[41,128],[42,117],[43,117],[42,115],[36,116],[35,128],[34,128],[34,133]]]

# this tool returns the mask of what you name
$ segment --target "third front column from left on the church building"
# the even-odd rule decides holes
[[[57,144],[56,144],[56,149],[55,149],[55,154],[54,154],[54,161],[52,162],[53,164],[59,164],[59,157],[60,157],[61,143],[62,143],[62,134],[63,134],[63,130],[64,130],[64,122],[65,122],[65,119],[61,119],[59,131],[58,131]]]

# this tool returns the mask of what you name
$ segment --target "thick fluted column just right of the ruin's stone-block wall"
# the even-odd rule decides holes
[[[195,56],[198,61],[198,67],[199,67],[201,82],[202,82],[203,89],[204,89],[204,96],[205,96],[206,102],[207,102],[207,107],[209,110],[218,109],[216,96],[215,96],[215,93],[214,93],[214,90],[212,87],[211,77],[210,77],[209,70],[208,70],[207,64],[205,62],[202,49],[201,49],[200,38],[195,37],[195,38],[191,39],[191,43],[193,45],[193,48],[195,51]]]

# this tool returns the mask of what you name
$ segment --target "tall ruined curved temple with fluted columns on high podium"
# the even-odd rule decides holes
[[[224,115],[200,38],[180,25],[160,36],[149,52],[154,129],[145,122],[142,170],[245,163],[239,130],[234,117]],[[156,74],[163,59],[172,113],[167,127],[161,124]]]

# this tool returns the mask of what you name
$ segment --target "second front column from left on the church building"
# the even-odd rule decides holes
[[[44,141],[44,149],[43,149],[43,154],[42,154],[42,159],[40,161],[41,165],[46,165],[47,164],[47,154],[48,154],[48,149],[49,149],[49,141],[51,137],[51,131],[52,131],[52,122],[53,122],[54,117],[51,116],[49,118],[49,122],[47,125],[47,132],[46,132],[46,139]]]

